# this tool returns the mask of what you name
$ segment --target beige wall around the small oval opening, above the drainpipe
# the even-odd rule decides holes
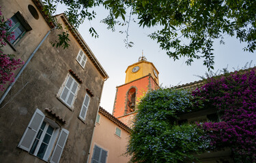
[[[10,44],[3,47],[5,54],[14,54],[16,58],[20,58],[24,62],[29,58],[30,54],[50,30],[50,27],[37,10],[37,7],[35,7],[35,9],[39,15],[38,20],[33,18],[29,12],[28,5],[33,5],[35,7],[35,4],[31,0],[0,0],[1,11],[5,20],[14,16],[16,12],[20,12],[32,28],[31,31],[25,33],[22,39],[20,39],[13,48]],[[3,92],[0,92],[0,96],[2,96],[2,94]]]

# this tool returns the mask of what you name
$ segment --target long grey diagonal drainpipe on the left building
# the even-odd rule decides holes
[[[35,55],[35,52],[38,51],[38,49],[40,48],[40,46],[42,46],[42,43],[44,42],[44,40],[46,39],[46,37],[48,37],[48,35],[51,33],[51,31],[53,31],[54,29],[56,29],[57,27],[55,26],[55,28],[51,29],[50,31],[48,31],[48,33],[46,33],[46,35],[44,36],[44,38],[42,39],[42,41],[39,43],[39,45],[35,48],[35,50],[33,51],[33,53],[29,56],[28,60],[25,62],[25,65],[20,69],[20,71],[18,72],[18,75],[16,75],[14,82],[12,82],[12,84],[10,84],[10,86],[8,87],[8,89],[5,91],[5,93],[3,94],[3,96],[1,97],[0,100],[0,104],[3,102],[4,98],[7,96],[8,92],[11,90],[12,86],[14,86],[15,82],[17,81],[18,77],[20,77],[21,73],[23,73],[24,69],[27,67],[27,65],[29,64],[30,60],[33,58],[33,56]]]

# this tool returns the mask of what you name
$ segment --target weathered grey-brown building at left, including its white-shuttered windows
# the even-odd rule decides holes
[[[86,162],[108,75],[65,15],[56,17],[70,33],[63,50],[51,41],[65,31],[55,30],[41,1],[0,5],[21,31],[4,52],[25,62],[10,92],[0,94],[1,162]]]

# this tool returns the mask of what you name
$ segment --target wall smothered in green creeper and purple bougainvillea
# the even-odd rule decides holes
[[[193,162],[195,153],[230,147],[235,162],[256,162],[255,69],[206,79],[196,90],[160,88],[138,105],[131,162]],[[220,122],[177,124],[178,115],[214,108]]]

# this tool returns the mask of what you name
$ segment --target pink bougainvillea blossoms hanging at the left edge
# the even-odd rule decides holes
[[[8,31],[10,26],[12,26],[12,20],[8,19],[5,22],[0,7],[0,90],[2,91],[7,82],[14,82],[13,71],[23,65],[23,61],[14,58],[14,55],[3,52],[7,42],[15,40],[13,33]]]

